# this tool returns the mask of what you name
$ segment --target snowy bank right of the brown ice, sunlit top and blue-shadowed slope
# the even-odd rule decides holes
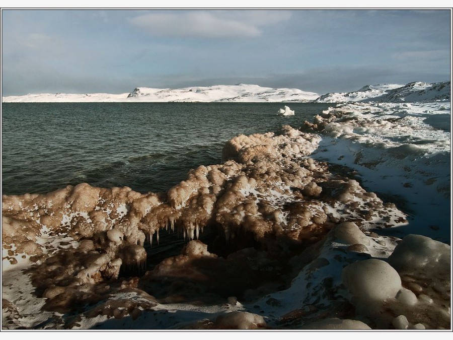
[[[450,240],[450,104],[355,103],[329,108],[305,131],[323,135],[312,155],[345,165],[409,216],[399,237]],[[397,235],[397,234],[395,234]]]

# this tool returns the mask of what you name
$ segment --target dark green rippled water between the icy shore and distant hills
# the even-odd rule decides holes
[[[192,168],[217,164],[240,133],[299,127],[332,104],[4,103],[2,193],[68,184],[167,190]]]

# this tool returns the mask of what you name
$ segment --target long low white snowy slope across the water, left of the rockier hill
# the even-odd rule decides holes
[[[308,102],[318,98],[314,92],[298,89],[272,89],[258,85],[216,85],[182,89],[139,87],[131,93],[28,94],[3,97],[3,102]]]

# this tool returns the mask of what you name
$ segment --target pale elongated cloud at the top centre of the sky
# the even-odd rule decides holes
[[[192,38],[253,38],[262,26],[289,18],[289,12],[188,11],[155,12],[130,19],[151,35]]]

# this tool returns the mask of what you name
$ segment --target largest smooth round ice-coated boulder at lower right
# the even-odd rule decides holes
[[[400,291],[401,278],[387,262],[368,259],[343,268],[343,284],[362,302],[378,302],[394,298]]]

